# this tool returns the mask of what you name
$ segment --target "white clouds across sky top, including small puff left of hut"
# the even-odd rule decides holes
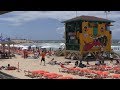
[[[101,18],[106,18],[104,11],[77,11],[77,16],[89,15]],[[76,16],[76,11],[14,11],[7,13],[7,15],[0,16],[1,21],[5,21],[12,26],[20,26],[24,23],[41,19],[41,18],[52,18],[57,19],[60,22],[66,19],[70,19]],[[111,11],[108,13],[108,19],[116,21],[113,23],[112,31],[113,37],[119,36],[120,30],[120,11]],[[56,29],[57,33],[62,34],[64,32],[63,27]],[[118,37],[119,38],[119,37]]]

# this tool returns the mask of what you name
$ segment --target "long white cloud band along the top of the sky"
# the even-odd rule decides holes
[[[80,15],[92,15],[105,18],[104,11],[77,11],[77,16]],[[76,11],[14,11],[11,12],[10,14],[7,14],[7,17],[0,18],[0,20],[8,21],[10,22],[11,25],[22,25],[26,22],[40,18],[53,18],[63,21],[66,19],[73,18],[75,16]],[[120,16],[119,15],[110,16],[110,18],[112,17],[116,18]]]

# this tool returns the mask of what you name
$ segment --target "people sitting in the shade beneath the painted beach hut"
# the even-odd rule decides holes
[[[110,56],[107,56],[107,54],[105,52],[96,52],[94,54],[94,60],[95,60],[95,65],[106,65],[105,60],[106,58],[109,59],[111,64],[115,64],[115,65],[119,65],[120,64],[120,57],[114,58],[114,54],[110,53]],[[75,67],[87,67],[90,66],[90,56],[91,54],[88,53],[88,55],[84,58],[81,58],[80,60],[75,61]],[[108,58],[109,57],[109,58]],[[82,61],[86,61],[86,65],[82,63]],[[113,61],[116,61],[115,63],[113,63]]]

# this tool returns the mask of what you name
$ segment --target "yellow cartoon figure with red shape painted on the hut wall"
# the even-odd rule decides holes
[[[89,28],[88,23],[83,23],[84,50],[91,50],[93,47],[104,47],[107,45],[107,36],[104,35],[104,24],[98,27]]]

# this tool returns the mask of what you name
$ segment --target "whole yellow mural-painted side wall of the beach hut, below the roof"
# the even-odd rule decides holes
[[[108,27],[107,23],[82,22],[82,33],[79,34],[80,51],[110,51],[111,31],[107,30]]]

